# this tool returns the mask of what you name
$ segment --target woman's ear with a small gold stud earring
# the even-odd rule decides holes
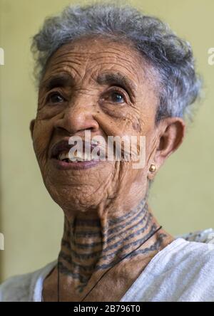
[[[158,123],[158,141],[156,153],[152,164],[156,165],[156,170],[162,166],[170,154],[182,144],[185,136],[185,122],[180,117],[167,117]],[[149,179],[153,179],[156,172],[149,172]]]

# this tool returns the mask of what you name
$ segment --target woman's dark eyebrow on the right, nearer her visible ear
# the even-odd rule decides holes
[[[101,85],[119,85],[128,89],[132,94],[136,93],[137,90],[136,83],[133,83],[133,80],[121,73],[101,73],[96,81]]]

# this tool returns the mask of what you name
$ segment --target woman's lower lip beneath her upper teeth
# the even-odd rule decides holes
[[[88,169],[88,168],[96,166],[96,164],[99,164],[101,162],[100,160],[91,160],[91,161],[85,161],[85,162],[63,162],[56,158],[52,158],[51,161],[54,163],[54,167],[60,170]]]

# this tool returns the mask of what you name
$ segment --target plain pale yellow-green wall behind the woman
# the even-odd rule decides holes
[[[30,38],[44,18],[61,11],[67,0],[0,0],[1,105],[1,280],[41,268],[58,253],[63,229],[61,209],[42,184],[29,135],[36,112]],[[78,1],[85,3],[86,1]],[[167,21],[193,45],[205,80],[205,100],[188,129],[183,147],[170,157],[151,189],[151,205],[163,227],[173,234],[214,226],[214,47],[213,0],[130,1]]]

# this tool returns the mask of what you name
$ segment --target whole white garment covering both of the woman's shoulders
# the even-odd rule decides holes
[[[0,302],[41,302],[56,261],[0,285]],[[121,302],[214,302],[214,245],[175,239],[148,263]]]

